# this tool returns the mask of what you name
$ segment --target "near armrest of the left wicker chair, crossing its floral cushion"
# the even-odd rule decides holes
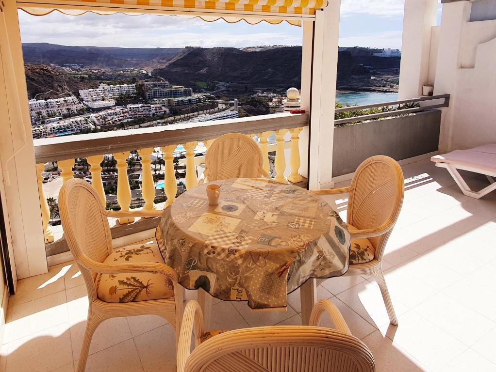
[[[170,277],[173,281],[179,280],[178,273],[172,268],[164,264],[159,264],[157,262],[146,262],[146,263],[128,263],[128,264],[102,264],[93,261],[86,255],[81,255],[77,259],[78,265],[82,265],[93,272],[99,272],[103,274],[111,273],[125,273],[125,272],[151,272],[156,274],[163,274]]]

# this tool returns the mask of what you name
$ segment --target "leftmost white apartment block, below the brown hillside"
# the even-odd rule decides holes
[[[29,101],[31,121],[59,115],[75,115],[85,109],[86,106],[73,96],[38,101],[33,99]]]

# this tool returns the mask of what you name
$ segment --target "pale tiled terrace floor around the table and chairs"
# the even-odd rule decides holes
[[[405,203],[383,263],[399,325],[389,324],[379,288],[367,278],[329,279],[318,297],[339,307],[372,350],[377,371],[496,371],[496,193],[465,197],[428,160],[403,171]],[[336,203],[345,216],[346,199]],[[260,314],[244,303],[215,301],[212,327],[300,324],[298,291],[288,305],[284,313]],[[86,288],[70,263],[19,281],[0,370],[73,372],[86,312]],[[93,337],[86,371],[175,371],[173,331],[155,316],[108,320]]]

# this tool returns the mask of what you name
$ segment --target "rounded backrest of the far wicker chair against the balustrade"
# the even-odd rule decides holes
[[[240,133],[217,138],[205,156],[205,171],[199,183],[229,178],[269,177],[263,169],[262,152],[250,136]]]

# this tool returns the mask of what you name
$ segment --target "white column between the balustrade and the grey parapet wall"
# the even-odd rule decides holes
[[[332,188],[340,0],[315,12],[310,102],[310,190]],[[305,101],[302,96],[302,107]]]

